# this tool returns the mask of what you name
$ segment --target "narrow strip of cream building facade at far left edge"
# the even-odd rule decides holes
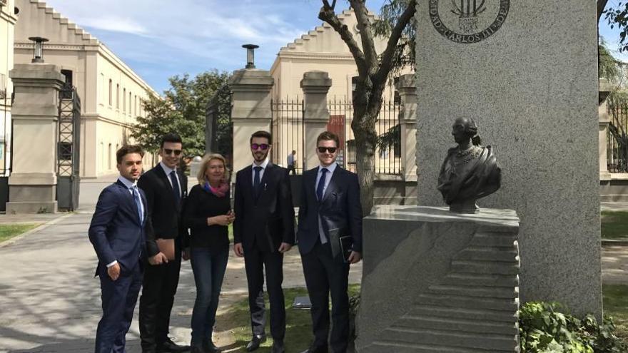
[[[13,68],[13,41],[18,16],[14,0],[0,0],[0,175],[9,175],[11,160],[11,93],[9,71]]]

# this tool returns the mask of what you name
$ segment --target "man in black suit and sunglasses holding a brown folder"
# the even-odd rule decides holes
[[[140,337],[143,353],[186,352],[168,337],[170,312],[174,302],[179,270],[181,239],[187,230],[181,222],[181,209],[188,194],[188,178],[181,173],[183,143],[176,133],[161,138],[161,162],[138,180],[146,193],[152,232],[147,232],[148,263],[140,297]]]

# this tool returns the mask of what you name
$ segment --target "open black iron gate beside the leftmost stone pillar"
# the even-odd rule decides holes
[[[74,86],[66,86],[61,90],[59,100],[56,198],[60,210],[78,208],[80,135],[81,98]]]

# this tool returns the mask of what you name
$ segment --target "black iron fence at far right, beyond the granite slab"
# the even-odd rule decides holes
[[[607,165],[610,173],[628,173],[628,103],[609,97]]]

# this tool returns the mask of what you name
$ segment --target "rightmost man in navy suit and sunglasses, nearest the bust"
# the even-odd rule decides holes
[[[318,135],[320,165],[303,173],[297,238],[312,302],[314,342],[308,353],[328,353],[328,337],[334,353],[347,352],[349,264],[362,259],[360,183],[358,175],[336,164],[338,144],[334,133]]]

